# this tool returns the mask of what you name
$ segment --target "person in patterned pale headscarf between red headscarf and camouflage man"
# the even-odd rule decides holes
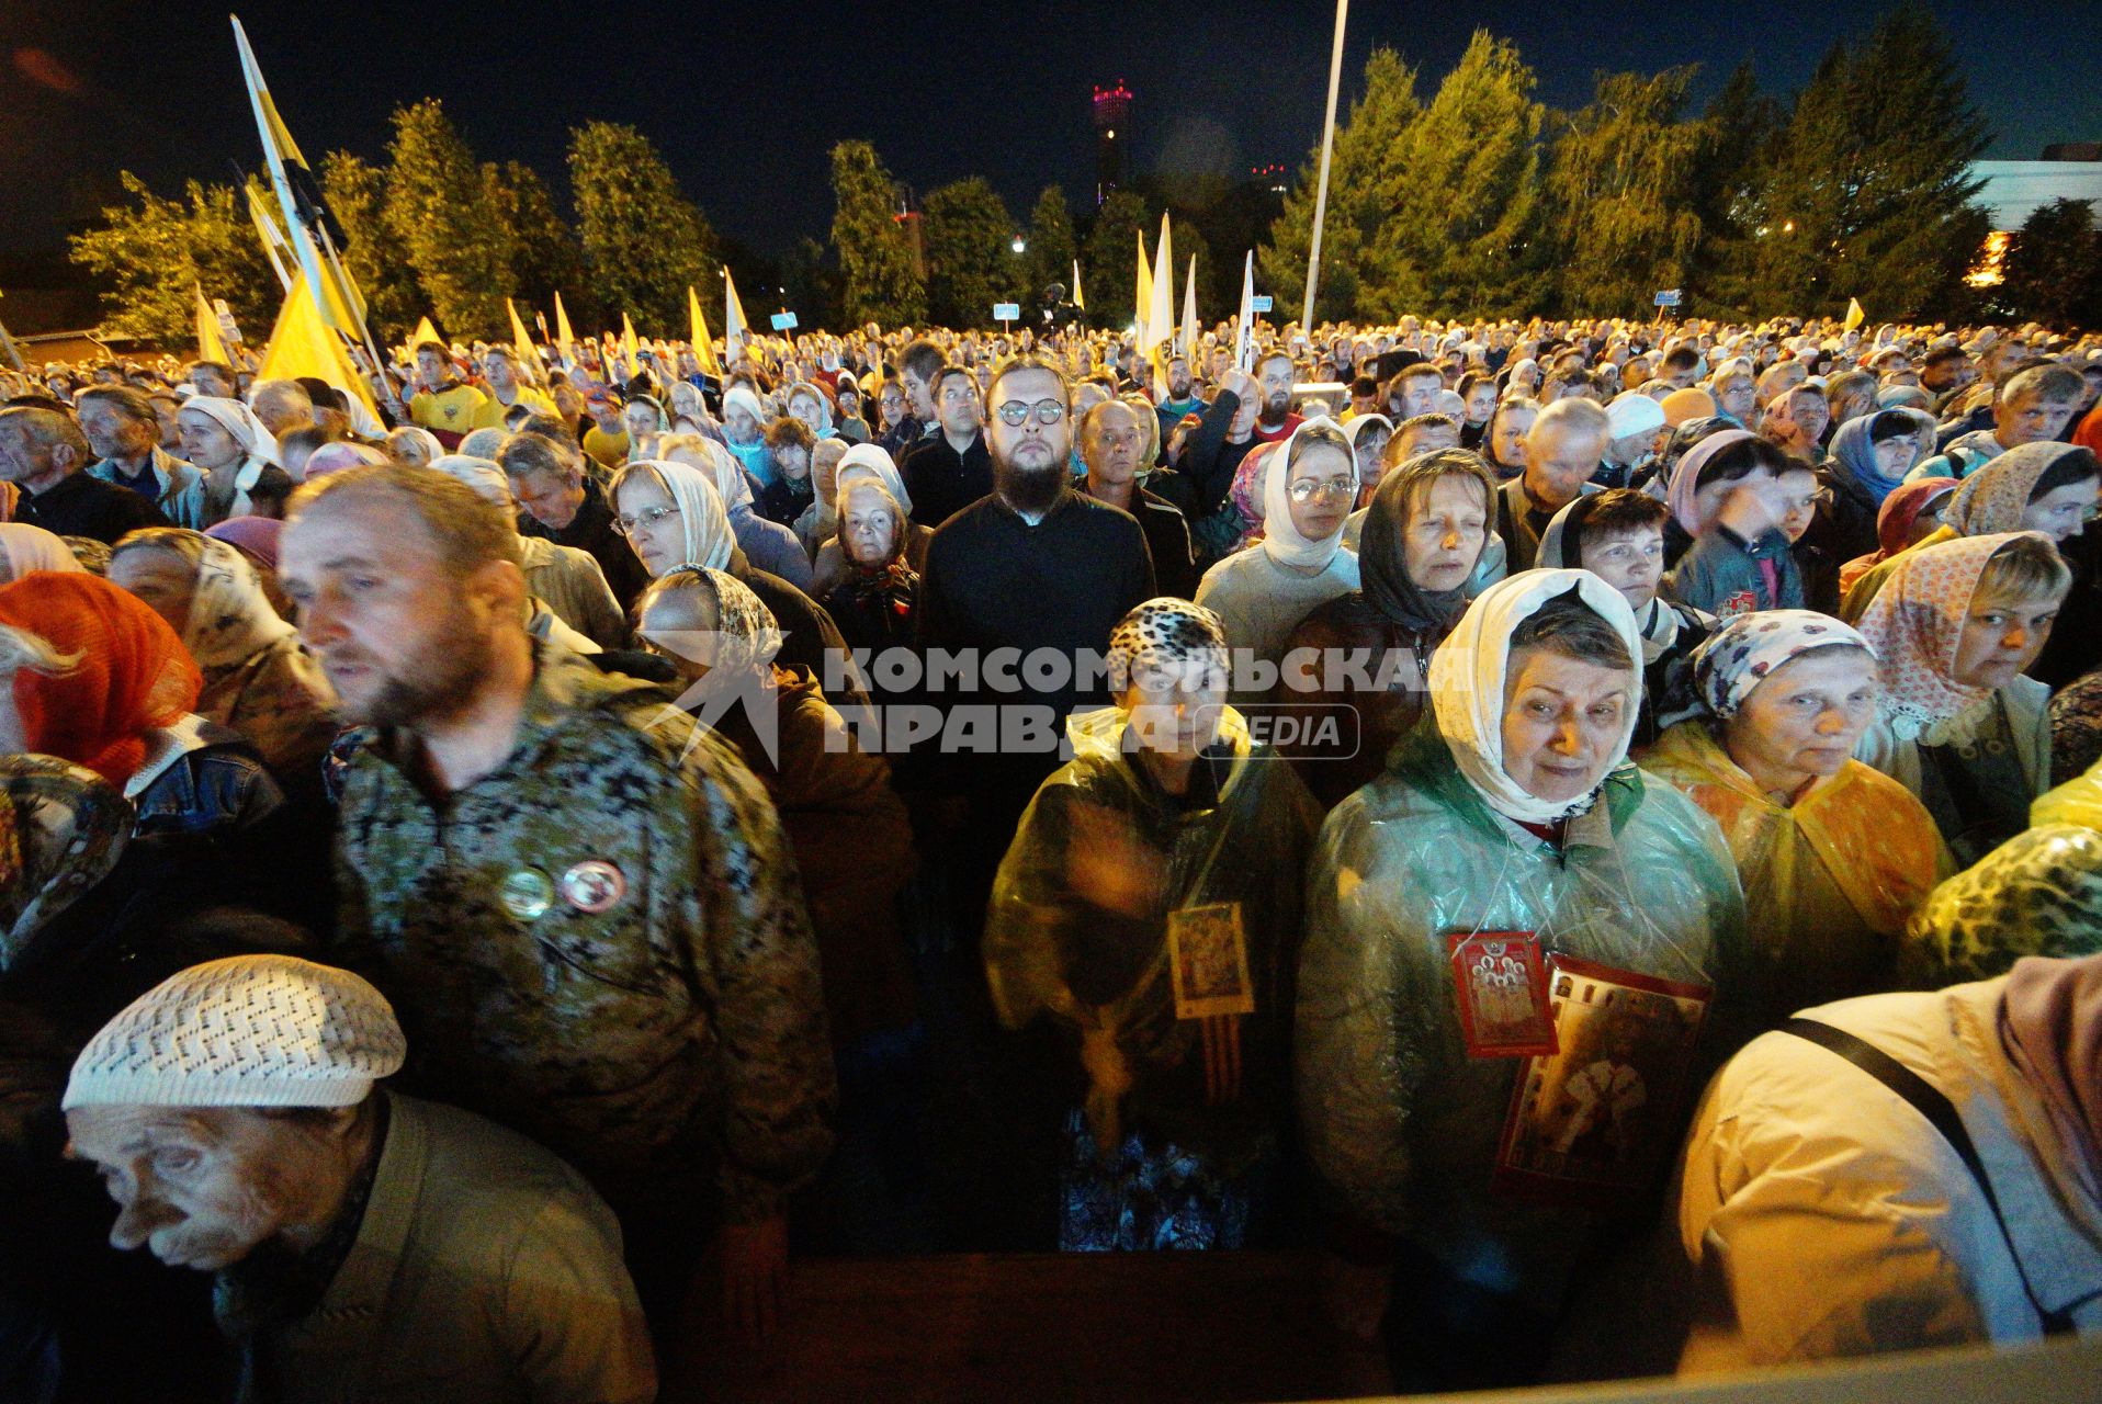
[[[240,731],[290,786],[320,778],[336,738],[336,689],[298,631],[271,610],[248,557],[185,528],[145,528],[118,542],[109,582],[168,620],[204,673],[195,713]]]

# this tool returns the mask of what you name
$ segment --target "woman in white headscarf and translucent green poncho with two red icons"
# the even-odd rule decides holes
[[[1640,658],[1598,576],[1492,584],[1307,868],[1301,1129],[1360,1248],[1333,1305],[1371,1333],[1392,1295],[1429,1387],[1537,1377],[1751,998],[1730,849],[1627,763]]]

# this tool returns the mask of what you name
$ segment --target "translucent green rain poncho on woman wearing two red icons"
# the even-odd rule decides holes
[[[1633,765],[1606,778],[1555,851],[1484,803],[1434,719],[1322,826],[1295,1030],[1307,1154],[1358,1223],[1553,1312],[1598,1196],[1547,1202],[1555,1196],[1492,1188],[1520,1078],[1541,1076],[1541,1059],[1467,1053],[1446,937],[1497,931],[1713,990],[1690,1055],[1677,1068],[1669,1053],[1648,1055],[1652,1076],[1675,1087],[1652,1085],[1637,1106],[1614,1082],[1629,1188],[1606,1209],[1640,1213],[1654,1204],[1703,1072],[1736,1047],[1755,1003],[1745,900],[1715,822]]]

